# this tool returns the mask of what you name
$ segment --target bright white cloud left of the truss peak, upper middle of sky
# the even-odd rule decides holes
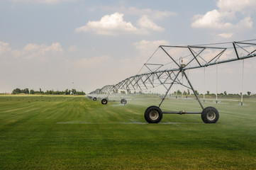
[[[92,31],[99,35],[121,35],[121,34],[149,34],[149,30],[162,31],[164,28],[153,23],[148,16],[143,16],[138,21],[139,28],[132,23],[123,21],[123,13],[113,13],[101,18],[100,21],[89,21],[86,26],[76,28],[76,32]]]

